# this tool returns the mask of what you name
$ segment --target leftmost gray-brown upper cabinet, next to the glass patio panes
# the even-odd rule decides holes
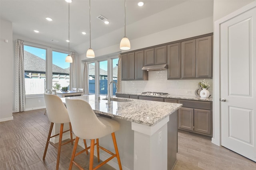
[[[122,80],[134,80],[134,53],[122,54]]]

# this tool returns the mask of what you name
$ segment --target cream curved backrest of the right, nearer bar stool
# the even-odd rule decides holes
[[[66,98],[72,130],[82,139],[98,139],[107,135],[107,128],[96,116],[88,102]]]

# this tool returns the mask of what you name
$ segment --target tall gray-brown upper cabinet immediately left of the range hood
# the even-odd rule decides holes
[[[136,51],[135,55],[135,80],[148,80],[148,71],[141,70],[144,66],[144,50]]]

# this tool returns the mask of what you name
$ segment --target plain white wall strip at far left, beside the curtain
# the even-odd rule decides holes
[[[8,40],[6,43],[4,40]],[[0,20],[0,121],[12,120],[12,23]]]

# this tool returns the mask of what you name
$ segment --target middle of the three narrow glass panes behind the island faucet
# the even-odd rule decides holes
[[[100,94],[108,93],[108,61],[100,61]]]

